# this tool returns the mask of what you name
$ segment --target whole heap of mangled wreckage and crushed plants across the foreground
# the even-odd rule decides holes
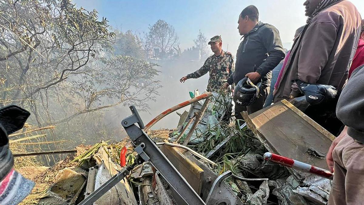
[[[222,205],[224,197],[227,197],[230,202],[241,205],[326,204],[331,189],[329,179],[264,160],[263,155],[267,151],[276,149],[278,154],[281,152],[280,147],[272,147],[274,142],[269,142],[269,134],[265,134],[264,125],[257,123],[263,121],[262,116],[268,116],[265,112],[270,112],[269,109],[249,116],[249,120],[245,118],[250,129],[240,129],[221,123],[224,113],[217,112],[221,109],[216,109],[215,102],[217,101],[213,100],[206,109],[197,131],[190,139],[191,143],[188,143],[188,147],[194,151],[157,143],[159,149],[203,201],[207,203],[215,200],[214,203]],[[191,129],[187,122],[193,119],[194,113],[199,112],[201,107],[202,103],[199,102],[191,105],[190,111],[181,115],[176,130],[148,131],[147,134],[154,142],[170,143],[175,143],[178,136],[183,136],[180,141],[182,143],[186,136],[183,132]],[[284,110],[286,113],[285,109],[277,110]],[[186,126],[187,129],[184,129]],[[301,131],[307,134],[304,129]],[[120,151],[129,144],[128,140],[113,144],[101,142],[94,146],[78,146],[76,154],[68,155],[55,166],[19,169],[25,177],[36,182],[32,194],[22,204],[78,204],[122,169]],[[301,153],[297,156],[304,155],[310,162],[320,162],[318,159],[321,160],[324,153],[319,150],[325,147],[312,147],[290,151]],[[196,152],[204,156],[198,156],[200,154],[195,154]],[[126,163],[133,164],[135,156],[134,150],[129,148]],[[217,182],[219,187],[216,187]],[[211,196],[215,198],[211,200]],[[178,194],[163,179],[163,175],[149,162],[145,162],[134,167],[130,175],[94,204],[158,205],[180,202]]]

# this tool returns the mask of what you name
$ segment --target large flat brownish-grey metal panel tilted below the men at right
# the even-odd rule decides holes
[[[325,159],[315,157],[308,149],[326,154],[335,137],[288,101],[282,100],[249,116],[246,112],[242,114],[270,152],[327,169]],[[299,179],[306,176],[290,171]]]

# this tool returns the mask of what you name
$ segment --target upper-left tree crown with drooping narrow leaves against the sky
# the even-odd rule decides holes
[[[2,2],[1,8],[1,76],[5,88],[13,88],[3,92],[5,103],[24,105],[77,75],[114,36],[106,19],[97,21],[95,10],[68,1]]]

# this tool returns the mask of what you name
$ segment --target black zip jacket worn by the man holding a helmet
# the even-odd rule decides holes
[[[269,86],[272,70],[285,56],[278,29],[259,22],[243,37],[236,54],[234,74],[227,82],[237,84],[247,73],[257,71],[263,85]]]

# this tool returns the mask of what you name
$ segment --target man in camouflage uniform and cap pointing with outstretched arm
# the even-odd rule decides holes
[[[179,81],[185,82],[189,78],[199,78],[209,72],[210,77],[206,90],[218,92],[234,73],[234,58],[230,52],[222,50],[221,36],[212,37],[209,45],[214,55],[208,57],[200,69],[182,77]]]

